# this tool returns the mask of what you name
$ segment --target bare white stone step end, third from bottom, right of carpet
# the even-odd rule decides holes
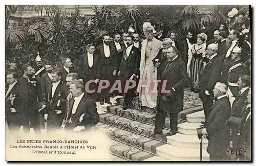
[[[197,129],[200,128],[200,125],[202,124],[198,122],[185,122],[178,125],[178,132],[186,135],[197,135]]]

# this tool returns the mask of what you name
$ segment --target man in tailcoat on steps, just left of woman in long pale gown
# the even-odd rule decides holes
[[[120,76],[122,92],[124,92],[126,81],[136,79],[139,76],[139,65],[140,65],[140,51],[133,45],[133,36],[126,37],[127,48],[123,51],[123,56],[121,60],[121,64],[119,67],[118,75]],[[127,92],[124,97],[124,109],[127,109],[129,101],[134,97],[133,89],[127,89]]]

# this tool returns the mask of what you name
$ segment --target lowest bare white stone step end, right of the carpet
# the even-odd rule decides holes
[[[172,161],[200,161],[200,149],[181,148],[165,144],[156,148],[157,156]],[[202,150],[202,160],[209,161],[209,154],[206,149]]]

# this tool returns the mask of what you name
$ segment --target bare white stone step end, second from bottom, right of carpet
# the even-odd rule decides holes
[[[200,149],[200,140],[197,135],[186,135],[177,133],[172,136],[166,136],[167,143],[181,148]],[[207,149],[208,140],[203,141],[203,148]]]

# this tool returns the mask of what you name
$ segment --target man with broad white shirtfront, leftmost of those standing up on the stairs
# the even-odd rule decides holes
[[[100,66],[99,66],[99,56],[94,54],[95,46],[93,44],[87,45],[87,51],[85,54],[81,55],[79,61],[79,77],[82,78],[83,84],[87,85],[90,90],[95,92],[89,93],[88,95],[93,99],[97,100],[97,84],[100,79]],[[93,82],[88,82],[94,80]],[[90,83],[90,84],[89,84]]]

